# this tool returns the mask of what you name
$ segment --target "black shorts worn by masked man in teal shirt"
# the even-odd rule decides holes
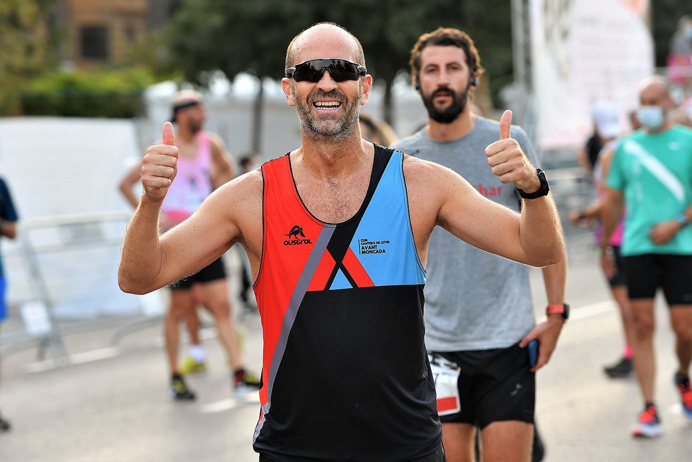
[[[625,257],[630,299],[653,299],[661,287],[671,305],[692,305],[692,255],[645,254]]]

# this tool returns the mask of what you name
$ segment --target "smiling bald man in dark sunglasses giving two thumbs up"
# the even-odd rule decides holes
[[[282,86],[302,145],[158,236],[177,155],[164,125],[163,144],[143,159],[120,287],[150,292],[240,242],[262,315],[260,461],[444,461],[422,313],[430,233],[439,225],[494,254],[549,265],[564,247],[555,205],[543,195],[510,211],[447,168],[361,139],[372,77],[358,40],[336,24],[293,39]],[[488,168],[547,193],[510,122],[507,112]]]

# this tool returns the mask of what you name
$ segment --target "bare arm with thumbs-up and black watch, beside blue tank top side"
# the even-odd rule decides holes
[[[511,111],[500,118],[499,140],[485,150],[489,168],[504,184],[513,184],[526,193],[540,188],[536,168],[511,138]],[[410,166],[406,168],[406,163]],[[408,170],[408,172],[407,172]],[[524,199],[521,213],[486,199],[453,170],[436,163],[407,158],[404,163],[412,222],[426,213],[432,223],[469,244],[493,254],[527,265],[543,267],[558,263],[564,242],[558,212],[550,195]],[[423,212],[414,216],[421,206]],[[427,241],[432,233],[430,216],[416,222],[417,245],[421,260],[427,259]],[[421,240],[419,242],[419,240]]]

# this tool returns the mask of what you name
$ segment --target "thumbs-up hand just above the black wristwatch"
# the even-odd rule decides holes
[[[536,168],[521,150],[521,146],[509,132],[512,112],[507,110],[500,118],[500,139],[485,148],[488,163],[493,173],[502,183],[513,183],[525,193],[535,193],[540,189]]]

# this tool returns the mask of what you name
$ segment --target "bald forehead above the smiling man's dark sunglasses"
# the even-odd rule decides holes
[[[295,52],[293,64],[318,57],[340,57],[356,61],[356,43],[345,30],[339,28],[306,30],[293,46]]]

